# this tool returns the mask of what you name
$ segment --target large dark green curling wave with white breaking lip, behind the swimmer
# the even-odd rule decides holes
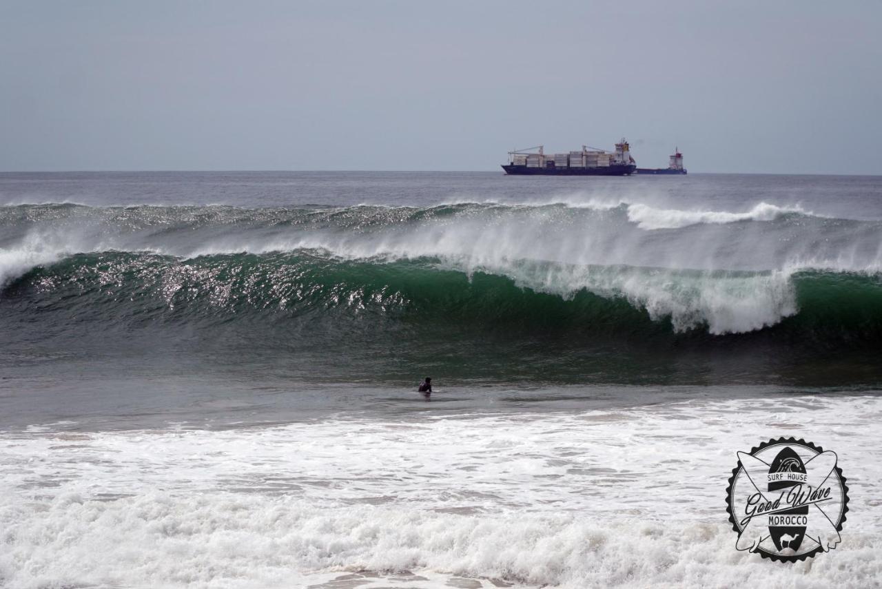
[[[13,281],[7,299],[95,321],[176,317],[410,317],[432,324],[546,325],[582,332],[712,336],[765,330],[882,338],[882,280],[846,272],[702,272],[533,260],[352,260],[325,250],[189,259],[102,252]]]

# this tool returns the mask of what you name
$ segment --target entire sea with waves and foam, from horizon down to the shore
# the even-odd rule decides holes
[[[882,176],[0,174],[3,586],[879,586],[880,390]]]

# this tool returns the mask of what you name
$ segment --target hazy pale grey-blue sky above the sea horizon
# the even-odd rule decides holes
[[[0,170],[882,174],[882,2],[0,0]]]

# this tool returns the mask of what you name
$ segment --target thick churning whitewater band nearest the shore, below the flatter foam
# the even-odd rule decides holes
[[[0,561],[20,559],[24,567],[7,577],[20,589],[75,583],[303,587],[336,576],[329,571],[360,570],[501,578],[529,587],[820,589],[871,587],[882,574],[879,536],[866,531],[844,531],[841,548],[816,562],[780,565],[738,553],[735,534],[718,522],[591,521],[566,513],[476,517],[408,506],[317,508],[289,497],[162,492],[109,502],[65,496],[41,503],[39,512],[4,515],[15,518],[11,530],[21,544]],[[357,586],[390,585],[368,578]],[[394,586],[457,585],[440,578]]]

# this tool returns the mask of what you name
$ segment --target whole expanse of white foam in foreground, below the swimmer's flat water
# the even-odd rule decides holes
[[[334,571],[413,570],[442,580],[404,586],[442,586],[447,575],[527,586],[871,586],[882,575],[880,418],[874,396],[777,396],[6,433],[0,583],[291,586]],[[851,503],[839,548],[782,566],[736,551],[723,497],[736,451],[791,435],[837,452]]]

